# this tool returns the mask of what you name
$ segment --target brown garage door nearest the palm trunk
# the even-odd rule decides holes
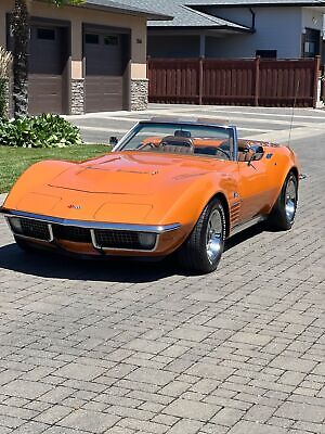
[[[31,27],[29,63],[29,113],[65,113],[64,68],[67,62],[67,29]]]

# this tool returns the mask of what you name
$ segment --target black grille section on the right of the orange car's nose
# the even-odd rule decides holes
[[[138,232],[123,230],[95,230],[95,240],[102,248],[148,250],[140,243]]]

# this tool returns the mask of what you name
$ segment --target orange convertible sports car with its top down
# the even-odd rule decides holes
[[[0,210],[17,244],[80,256],[161,258],[213,271],[224,241],[258,221],[290,229],[299,166],[277,144],[235,127],[140,122],[112,153],[46,161],[18,179]]]

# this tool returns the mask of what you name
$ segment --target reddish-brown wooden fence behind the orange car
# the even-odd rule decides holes
[[[150,102],[315,107],[320,58],[148,59]]]

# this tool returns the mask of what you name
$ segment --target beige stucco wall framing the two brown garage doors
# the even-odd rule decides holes
[[[0,44],[5,47],[5,13],[13,8],[13,0],[0,1]],[[131,29],[131,78],[146,78],[146,20],[143,17],[95,11],[86,8],[54,8],[32,1],[30,15],[72,23],[73,78],[82,77],[82,23],[126,27]],[[140,43],[141,41],[141,43]]]

